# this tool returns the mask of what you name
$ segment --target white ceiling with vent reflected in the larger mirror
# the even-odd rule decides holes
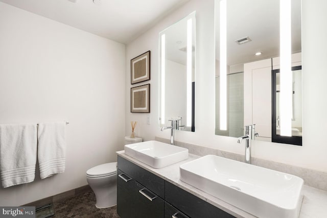
[[[292,53],[297,53],[301,52],[301,0],[292,0],[291,15]],[[249,37],[252,41],[237,44],[235,40],[243,37]],[[219,60],[218,13],[216,45],[216,57]],[[262,52],[262,55],[255,56],[256,52]],[[277,56],[279,56],[279,0],[228,0],[227,65]]]

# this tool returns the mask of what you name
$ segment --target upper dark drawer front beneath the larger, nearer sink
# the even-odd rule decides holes
[[[165,201],[192,218],[234,217],[167,181],[165,181]]]

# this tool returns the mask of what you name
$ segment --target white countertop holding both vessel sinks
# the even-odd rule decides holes
[[[147,171],[155,174],[156,176],[171,182],[172,184],[192,193],[200,199],[212,204],[233,216],[236,217],[255,217],[237,207],[234,207],[216,197],[209,195],[189,184],[186,184],[179,179],[179,166],[183,163],[190,162],[199,158],[199,156],[189,154],[189,159],[163,167],[152,168],[151,166],[142,163],[128,155],[125,155],[124,151],[116,152],[121,157],[135,163],[136,165],[147,169]],[[325,218],[327,217],[327,191],[313,188],[307,185],[303,186],[303,202],[300,211],[299,218]]]

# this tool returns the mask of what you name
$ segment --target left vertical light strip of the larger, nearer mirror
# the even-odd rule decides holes
[[[220,130],[227,130],[227,12],[226,0],[220,1]]]

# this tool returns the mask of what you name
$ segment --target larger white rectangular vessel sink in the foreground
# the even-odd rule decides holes
[[[180,165],[180,180],[258,217],[298,217],[303,180],[207,155]]]

